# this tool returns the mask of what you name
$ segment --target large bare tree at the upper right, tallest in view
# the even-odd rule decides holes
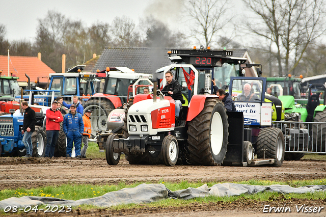
[[[324,0],[243,0],[258,17],[247,29],[276,49],[279,75],[302,61],[307,47],[325,32]]]

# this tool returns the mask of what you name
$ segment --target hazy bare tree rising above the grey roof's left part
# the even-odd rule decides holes
[[[141,43],[133,20],[126,16],[116,17],[113,20],[112,34],[114,46],[137,47]]]

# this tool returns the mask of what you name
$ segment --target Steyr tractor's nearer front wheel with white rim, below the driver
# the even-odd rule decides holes
[[[167,135],[162,142],[162,159],[166,166],[172,167],[176,164],[179,154],[178,141],[173,135]]]

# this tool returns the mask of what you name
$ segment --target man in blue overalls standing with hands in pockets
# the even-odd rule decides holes
[[[75,146],[76,158],[80,158],[80,146],[84,132],[84,122],[82,114],[76,112],[76,105],[70,105],[70,113],[64,116],[63,131],[67,138],[66,157],[71,157],[73,144]]]

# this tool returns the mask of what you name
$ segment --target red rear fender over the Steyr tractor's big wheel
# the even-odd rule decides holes
[[[188,105],[186,121],[193,120],[203,110],[206,98],[219,98],[216,95],[194,95]]]

